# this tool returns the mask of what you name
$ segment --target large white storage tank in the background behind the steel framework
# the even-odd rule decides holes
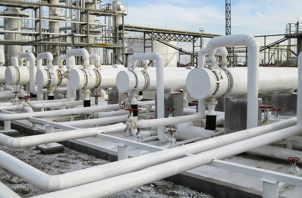
[[[177,45],[176,41],[169,41],[172,45]],[[146,46],[151,46],[150,42],[146,43]],[[129,41],[129,48],[133,48],[134,53],[143,53],[143,42]],[[146,48],[146,52],[151,52],[151,48]],[[177,67],[177,51],[172,47],[169,47],[158,41],[153,42],[153,52],[159,52],[164,58],[164,66]],[[137,61],[136,66],[141,65],[140,61]],[[156,67],[156,61],[153,61],[153,67]]]

